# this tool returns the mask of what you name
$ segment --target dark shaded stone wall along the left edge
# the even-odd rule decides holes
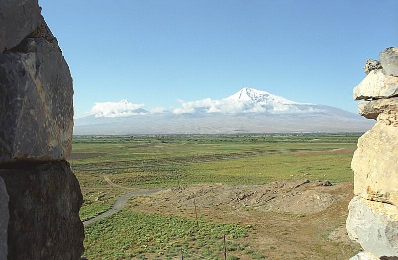
[[[80,259],[73,88],[38,0],[0,5],[0,260]]]

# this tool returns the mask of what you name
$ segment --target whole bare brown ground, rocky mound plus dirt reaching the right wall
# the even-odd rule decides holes
[[[195,196],[199,220],[253,226],[253,232],[240,242],[264,259],[347,259],[360,250],[344,230],[353,185],[327,185],[326,181],[307,180],[250,186],[199,184],[135,197],[128,207],[195,219]],[[236,255],[241,260],[252,259]]]

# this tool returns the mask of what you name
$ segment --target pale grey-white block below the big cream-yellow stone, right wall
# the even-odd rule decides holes
[[[398,208],[355,196],[348,206],[347,232],[362,248],[380,257],[398,256]]]

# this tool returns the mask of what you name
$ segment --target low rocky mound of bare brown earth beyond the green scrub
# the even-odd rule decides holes
[[[281,180],[266,185],[226,186],[221,183],[198,184],[159,192],[159,203],[171,201],[176,207],[230,206],[254,208],[261,211],[306,214],[318,212],[341,195],[331,194],[336,189],[329,181]]]

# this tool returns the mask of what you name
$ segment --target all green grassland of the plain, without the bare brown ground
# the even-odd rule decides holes
[[[73,139],[68,161],[84,194],[80,216],[88,220],[110,209],[118,196],[131,189],[176,187],[178,181],[180,185],[351,181],[350,162],[359,136],[79,136]],[[184,246],[218,259],[219,238],[226,233],[235,234],[228,235],[230,259],[265,258],[264,249],[245,242],[245,237],[257,233],[248,228],[251,222],[220,222],[209,212],[198,230],[190,214],[157,214],[132,205],[134,199],[124,210],[86,228],[86,257],[176,259]]]

